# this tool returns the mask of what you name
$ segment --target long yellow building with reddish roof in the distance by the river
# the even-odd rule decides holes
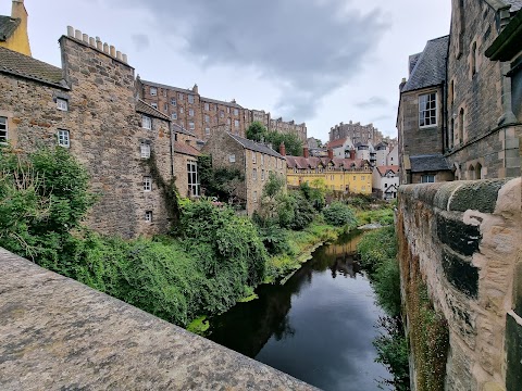
[[[330,190],[352,193],[372,193],[372,169],[364,160],[337,157],[285,156],[287,182],[297,187],[325,185]]]

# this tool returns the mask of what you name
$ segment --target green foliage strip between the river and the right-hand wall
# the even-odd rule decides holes
[[[385,380],[396,390],[409,390],[408,342],[401,320],[400,269],[397,261],[395,227],[385,227],[364,235],[357,247],[361,266],[368,272],[378,305],[386,312],[378,327],[384,332],[375,339],[377,362],[385,365],[393,380]]]

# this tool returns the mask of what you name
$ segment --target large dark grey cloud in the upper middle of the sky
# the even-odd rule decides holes
[[[117,2],[148,11],[204,66],[253,65],[282,86],[276,111],[299,122],[357,75],[387,28],[378,10],[362,14],[350,0]]]

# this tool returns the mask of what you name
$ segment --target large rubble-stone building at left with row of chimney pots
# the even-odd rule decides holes
[[[72,27],[60,48],[61,68],[0,48],[0,142],[24,151],[67,148],[100,194],[91,228],[125,238],[164,231],[160,185],[176,176],[183,195],[197,194],[197,151],[171,130],[169,116],[136,100],[125,54]]]

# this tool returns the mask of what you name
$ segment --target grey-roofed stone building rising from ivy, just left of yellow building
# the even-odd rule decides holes
[[[270,174],[274,173],[286,179],[286,161],[283,155],[265,144],[229,131],[216,131],[201,152],[212,156],[213,167],[237,168],[245,177],[235,189],[234,195],[237,203],[245,205],[249,216],[261,205],[263,187]]]

